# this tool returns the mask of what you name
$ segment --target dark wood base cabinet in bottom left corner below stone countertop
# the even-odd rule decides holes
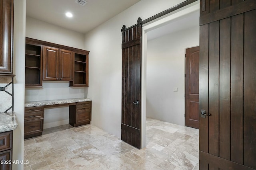
[[[0,170],[12,170],[12,131],[0,133]]]

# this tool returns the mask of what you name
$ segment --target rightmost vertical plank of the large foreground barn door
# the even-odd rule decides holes
[[[244,165],[256,169],[256,10],[244,14]]]

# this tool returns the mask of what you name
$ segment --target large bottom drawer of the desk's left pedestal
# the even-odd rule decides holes
[[[36,119],[25,121],[24,125],[24,135],[42,132],[44,125],[44,119]]]

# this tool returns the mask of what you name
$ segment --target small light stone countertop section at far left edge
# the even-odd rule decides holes
[[[18,126],[14,111],[0,113],[0,133],[13,131]]]

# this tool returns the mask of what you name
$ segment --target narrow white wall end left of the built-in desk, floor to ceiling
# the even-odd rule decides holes
[[[18,127],[13,131],[12,160],[24,160],[25,16],[26,0],[14,0],[14,111]],[[12,169],[22,170],[23,164],[13,164]]]

